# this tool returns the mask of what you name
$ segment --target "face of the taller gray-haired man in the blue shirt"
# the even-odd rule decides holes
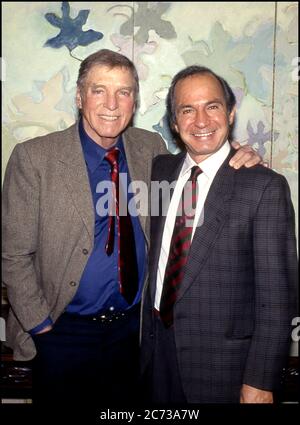
[[[83,89],[77,89],[87,134],[105,149],[113,146],[128,126],[135,111],[135,82],[126,68],[93,66]]]

